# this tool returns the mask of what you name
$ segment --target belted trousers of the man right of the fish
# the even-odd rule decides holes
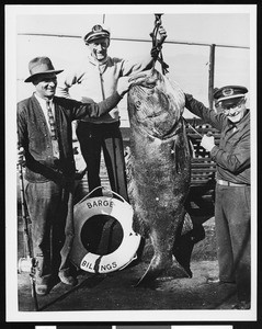
[[[250,300],[250,186],[216,186],[215,223],[219,279],[236,282],[240,300]]]

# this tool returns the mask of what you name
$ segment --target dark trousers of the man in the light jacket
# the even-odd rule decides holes
[[[100,164],[102,149],[111,189],[128,202],[124,146],[119,122],[92,124],[80,121],[76,133],[80,143],[81,154],[87,163],[89,191],[101,185]],[[96,193],[96,195],[101,195],[101,193]]]

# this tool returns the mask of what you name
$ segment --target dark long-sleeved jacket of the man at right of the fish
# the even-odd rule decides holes
[[[232,124],[224,113],[205,107],[190,94],[185,97],[185,107],[221,132],[219,146],[210,150],[217,163],[217,179],[250,184],[250,111]]]

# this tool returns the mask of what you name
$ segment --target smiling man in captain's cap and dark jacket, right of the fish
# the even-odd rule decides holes
[[[250,307],[250,111],[248,89],[225,86],[214,93],[214,111],[186,94],[185,106],[221,132],[219,145],[204,135],[201,145],[217,164],[215,223],[219,277],[209,283],[235,284],[239,304]]]

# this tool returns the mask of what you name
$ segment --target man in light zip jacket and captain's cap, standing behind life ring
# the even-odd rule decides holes
[[[167,35],[162,26],[159,27],[159,34]],[[158,57],[160,50],[153,47],[151,54],[137,60],[110,57],[107,49],[111,31],[104,24],[94,24],[88,29],[83,34],[83,42],[89,50],[87,59],[77,69],[65,71],[59,76],[57,88],[59,95],[70,98],[70,88],[78,84],[83,102],[90,101],[90,98],[91,101],[99,102],[111,95],[117,87],[119,77],[151,68],[153,58]],[[100,162],[103,150],[111,189],[128,201],[119,125],[119,113],[115,106],[103,117],[79,121],[77,136],[87,163],[89,190],[101,185]],[[99,193],[100,190],[96,191],[96,194]]]

